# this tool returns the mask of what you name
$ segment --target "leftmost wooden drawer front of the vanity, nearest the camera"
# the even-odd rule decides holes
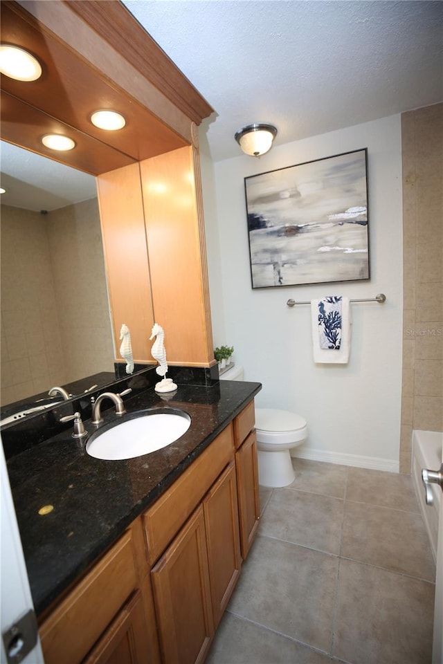
[[[46,664],[78,664],[137,586],[127,531],[40,627]]]

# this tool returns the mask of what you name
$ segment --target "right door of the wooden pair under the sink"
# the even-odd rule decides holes
[[[203,508],[214,626],[217,629],[242,565],[233,461],[206,495]]]

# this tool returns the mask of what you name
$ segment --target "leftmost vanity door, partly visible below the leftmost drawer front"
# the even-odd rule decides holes
[[[83,664],[149,664],[140,591],[123,607]]]

